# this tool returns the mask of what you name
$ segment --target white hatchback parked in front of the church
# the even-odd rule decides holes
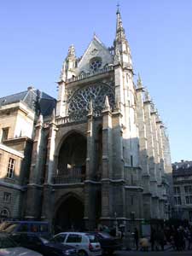
[[[55,235],[53,241],[76,247],[80,256],[99,256],[102,249],[94,234],[63,232]]]

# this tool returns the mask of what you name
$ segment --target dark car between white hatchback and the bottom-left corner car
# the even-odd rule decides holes
[[[10,238],[21,247],[32,249],[44,256],[78,256],[74,247],[49,241],[33,233],[11,234]]]

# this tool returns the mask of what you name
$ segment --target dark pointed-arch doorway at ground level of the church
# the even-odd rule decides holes
[[[84,229],[84,204],[70,195],[55,212],[55,232]]]

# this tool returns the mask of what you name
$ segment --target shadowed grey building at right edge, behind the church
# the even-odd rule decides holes
[[[172,218],[188,220],[192,224],[192,161],[172,164]]]

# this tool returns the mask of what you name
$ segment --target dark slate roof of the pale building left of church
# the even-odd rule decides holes
[[[35,111],[37,108],[44,116],[49,116],[56,105],[55,98],[40,90],[25,90],[14,95],[0,98],[0,107],[11,103],[24,102],[28,108]]]

